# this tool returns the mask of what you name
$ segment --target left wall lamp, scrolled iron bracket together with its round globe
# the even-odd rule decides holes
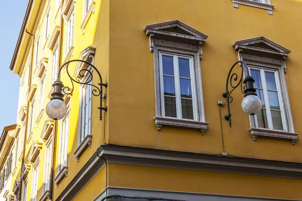
[[[74,78],[72,78],[68,72],[68,65],[71,62],[83,62],[86,63],[87,65],[91,66],[93,68],[93,70],[95,70],[99,77],[100,77],[100,83],[98,83],[98,85],[100,85],[99,87],[96,85],[91,84],[91,80],[93,78],[93,73],[91,69],[82,69],[79,71],[79,76],[84,78],[85,76],[88,77],[88,79],[85,82],[80,82],[75,80]],[[60,80],[60,72],[61,70],[66,66],[66,72],[68,77],[70,78],[70,81],[72,83],[72,89],[71,91],[69,87],[63,85],[62,81]],[[60,120],[62,119],[66,113],[67,113],[67,107],[66,104],[64,103],[63,100],[63,93],[65,94],[71,94],[73,91],[73,81],[79,84],[85,84],[85,85],[91,85],[93,87],[95,87],[92,90],[92,94],[95,96],[100,96],[100,107],[98,109],[100,109],[100,120],[102,120],[102,110],[107,111],[107,106],[106,107],[102,107],[102,98],[103,98],[103,86],[107,87],[107,82],[103,83],[102,81],[102,76],[99,72],[99,70],[92,65],[91,63],[84,61],[84,60],[70,60],[67,61],[66,63],[64,63],[59,71],[58,71],[58,76],[57,76],[57,80],[54,81],[54,83],[52,84],[53,86],[53,93],[51,93],[52,98],[50,99],[50,102],[46,105],[46,114],[50,119],[53,120]],[[62,93],[63,92],[63,93]]]

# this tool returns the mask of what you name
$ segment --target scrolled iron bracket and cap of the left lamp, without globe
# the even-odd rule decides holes
[[[97,72],[99,78],[100,78],[100,82],[98,83],[99,86],[96,86],[94,84],[91,83],[92,79],[93,79],[93,71],[91,69],[82,69],[79,71],[79,76],[81,78],[87,77],[87,79],[83,82],[81,81],[77,81],[74,78],[72,78],[72,76],[69,74],[68,71],[68,66],[71,62],[83,62],[89,66],[91,66],[93,68],[94,71]],[[66,72],[68,77],[70,78],[71,84],[72,84],[72,88],[70,90],[70,88],[68,86],[65,86],[62,84],[61,80],[60,80],[60,73],[61,70],[66,67]],[[61,99],[63,97],[63,94],[61,91],[63,91],[63,93],[65,94],[71,94],[73,92],[73,82],[79,83],[79,84],[84,84],[84,85],[90,85],[93,87],[92,89],[92,94],[94,96],[100,96],[100,107],[98,107],[98,109],[100,109],[100,120],[102,120],[102,110],[104,110],[105,112],[107,112],[107,106],[102,107],[102,99],[103,99],[103,86],[105,86],[107,88],[108,83],[103,83],[102,80],[102,76],[101,73],[99,72],[99,70],[92,65],[91,63],[84,61],[84,60],[80,60],[80,59],[75,59],[75,60],[70,60],[67,61],[66,63],[64,63],[58,70],[58,75],[57,75],[57,80],[53,83],[53,87],[54,87],[54,92],[51,94],[52,95],[52,99]]]

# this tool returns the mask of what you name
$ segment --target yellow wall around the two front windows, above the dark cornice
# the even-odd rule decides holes
[[[272,0],[273,16],[267,10],[239,5],[232,1],[110,1],[110,116],[109,143],[133,147],[220,154],[222,150],[219,107],[217,100],[225,90],[226,76],[238,60],[232,47],[237,40],[265,36],[290,49],[286,59],[286,82],[295,132],[302,130],[299,82],[302,76],[301,1]],[[131,12],[130,12],[131,11]],[[155,117],[154,53],[149,52],[149,38],[143,28],[149,24],[180,20],[208,35],[202,45],[200,61],[205,120],[209,122],[204,136],[198,130],[163,126],[157,131]],[[240,67],[238,67],[240,69]],[[259,137],[249,133],[249,117],[241,109],[243,95],[234,91],[231,104],[232,128],[223,119],[225,152],[228,154],[302,162],[302,145],[290,141]],[[118,126],[117,126],[118,125]]]

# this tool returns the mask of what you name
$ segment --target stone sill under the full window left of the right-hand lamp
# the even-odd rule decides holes
[[[199,129],[202,135],[204,135],[207,129],[207,125],[209,124],[207,122],[196,122],[192,120],[180,120],[180,119],[173,119],[167,117],[155,117],[153,120],[155,121],[155,125],[157,126],[159,131],[161,131],[163,125],[166,125],[166,126]]]

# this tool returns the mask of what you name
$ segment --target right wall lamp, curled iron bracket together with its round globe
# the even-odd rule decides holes
[[[233,73],[231,75],[233,68],[238,63],[242,64],[240,79],[239,79],[237,73]],[[244,91],[243,91],[242,79],[243,79],[243,72],[244,72],[243,68],[244,67],[246,68],[247,76],[243,81],[243,83],[245,84]],[[237,81],[238,79],[239,79],[238,83],[233,84],[233,80]],[[248,115],[257,115],[258,113],[260,113],[260,111],[262,109],[262,102],[261,102],[261,99],[255,93],[256,89],[254,88],[254,82],[255,82],[255,80],[253,79],[253,77],[250,76],[249,68],[245,62],[237,61],[236,63],[234,63],[234,65],[232,66],[232,68],[229,71],[228,78],[226,78],[226,90],[224,93],[222,93],[222,96],[226,98],[226,103],[228,104],[228,115],[225,115],[224,119],[229,120],[230,127],[232,127],[230,104],[233,102],[233,96],[231,96],[231,94],[234,91],[234,89],[237,88],[239,85],[241,88],[241,92],[243,94],[245,94],[244,98],[242,100],[242,103],[241,103],[242,110]],[[230,83],[231,87],[233,88],[231,91],[229,91],[229,83]]]

